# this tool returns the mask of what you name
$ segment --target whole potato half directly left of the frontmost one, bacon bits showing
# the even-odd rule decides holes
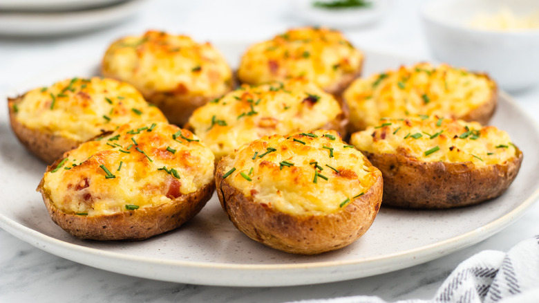
[[[79,145],[48,166],[37,187],[58,226],[95,240],[178,228],[214,189],[214,154],[164,122],[132,122]]]

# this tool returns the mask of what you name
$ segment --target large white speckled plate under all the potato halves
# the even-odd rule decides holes
[[[216,46],[233,65],[245,50],[245,44]],[[373,52],[367,52],[366,58],[366,75],[416,62]],[[97,58],[55,68],[18,86],[16,91],[50,85],[64,77],[93,75],[97,72],[95,62]],[[482,241],[522,216],[537,199],[538,128],[504,93],[500,94],[492,123],[507,130],[524,152],[520,173],[498,199],[455,210],[381,208],[370,230],[354,244],[323,255],[300,256],[267,248],[247,238],[227,219],[216,196],[185,226],[146,241],[84,241],[68,235],[49,219],[40,194],[35,192],[45,165],[17,142],[3,106],[0,107],[0,227],[66,259],[170,282],[292,286],[387,273]]]

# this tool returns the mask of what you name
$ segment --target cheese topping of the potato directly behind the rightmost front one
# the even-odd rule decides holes
[[[350,121],[365,129],[380,118],[418,114],[462,118],[489,102],[494,90],[495,83],[485,75],[421,63],[356,80],[343,98],[350,107]]]

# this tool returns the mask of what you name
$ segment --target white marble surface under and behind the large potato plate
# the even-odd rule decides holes
[[[422,2],[393,1],[379,24],[346,34],[360,48],[431,59],[418,20]],[[100,32],[41,39],[0,37],[0,91],[81,55],[95,57],[117,37],[149,28],[189,33],[199,40],[256,41],[301,24],[285,0],[149,1],[137,17]],[[539,122],[539,85],[513,97]],[[507,251],[538,234],[536,203],[524,217],[480,244],[412,268],[315,286],[226,288],[109,273],[50,255],[0,230],[0,302],[283,302],[349,295],[428,299],[451,270],[475,252]]]

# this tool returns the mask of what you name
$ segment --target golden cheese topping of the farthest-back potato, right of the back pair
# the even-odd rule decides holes
[[[251,46],[238,77],[249,84],[305,77],[327,90],[343,75],[359,73],[362,60],[363,54],[337,30],[296,28]]]

